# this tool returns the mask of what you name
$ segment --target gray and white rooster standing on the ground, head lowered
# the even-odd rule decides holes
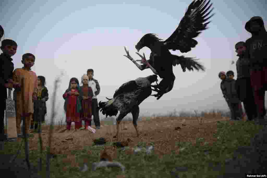
[[[114,138],[119,134],[119,124],[121,120],[130,112],[133,116],[133,126],[135,127],[137,136],[139,136],[137,129],[139,104],[151,95],[151,84],[155,81],[158,81],[157,75],[150,75],[131,80],[122,84],[119,89],[115,91],[112,99],[107,98],[109,101],[99,102],[98,109],[100,109],[100,112],[106,115],[106,117],[116,116],[118,111],[120,111],[120,114],[116,119],[117,134]]]

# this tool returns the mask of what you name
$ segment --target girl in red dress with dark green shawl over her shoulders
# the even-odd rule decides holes
[[[80,110],[81,110],[81,102],[79,98],[79,81],[77,78],[71,78],[69,81],[69,88],[63,94],[64,102],[64,110],[66,113],[66,122],[67,128],[65,130],[70,130],[70,126],[72,122],[75,122],[75,131],[81,128],[81,120],[80,120]]]

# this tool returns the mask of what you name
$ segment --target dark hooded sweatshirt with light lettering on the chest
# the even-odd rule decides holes
[[[250,31],[250,23],[257,21],[261,25],[258,33]],[[245,29],[252,34],[252,37],[246,40],[246,46],[249,50],[250,64],[252,67],[267,66],[267,32],[261,17],[252,17],[245,25]]]

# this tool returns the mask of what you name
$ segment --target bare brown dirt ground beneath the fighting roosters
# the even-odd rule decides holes
[[[136,137],[135,129],[131,121],[122,121],[120,124],[121,134],[119,138],[113,138],[116,133],[116,125],[103,125],[101,129],[97,129],[96,133],[88,130],[77,130],[74,128],[70,131],[58,133],[64,128],[55,128],[52,139],[53,154],[68,154],[72,150],[81,150],[85,146],[93,144],[93,139],[104,137],[109,141],[125,141],[130,140],[129,146],[136,147],[138,142],[151,143],[154,142],[155,153],[164,155],[172,150],[178,151],[175,142],[192,142],[195,143],[196,138],[204,138],[205,142],[212,144],[216,141],[213,134],[217,131],[217,121],[229,120],[225,117],[202,118],[180,118],[180,117],[164,117],[154,118],[148,121],[139,121],[138,129],[140,136]],[[102,122],[103,123],[103,122]],[[93,126],[94,127],[94,126]],[[44,148],[48,145],[49,126],[42,129],[42,140]],[[30,138],[30,150],[38,148],[38,134]]]

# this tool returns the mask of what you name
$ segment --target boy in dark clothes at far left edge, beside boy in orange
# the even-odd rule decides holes
[[[0,30],[1,33],[1,30]],[[17,43],[11,39],[4,39],[1,44],[1,50],[3,53],[0,55],[1,75],[0,75],[0,92],[1,97],[1,118],[0,118],[0,140],[5,140],[5,109],[6,109],[6,89],[12,89],[12,72],[14,70],[14,64],[12,62],[12,56],[17,52]]]

